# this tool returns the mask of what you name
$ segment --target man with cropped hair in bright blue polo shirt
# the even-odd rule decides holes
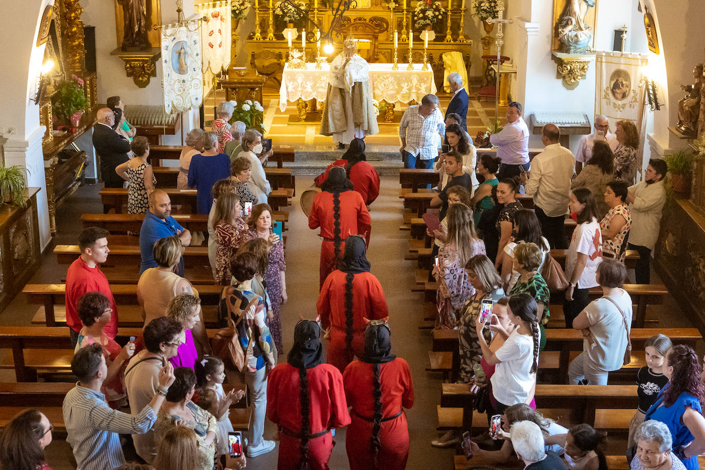
[[[164,190],[154,190],[149,193],[149,211],[145,214],[145,221],[140,229],[140,252],[142,253],[142,264],[140,274],[147,268],[156,268],[157,261],[154,261],[152,248],[154,242],[160,238],[176,236],[181,240],[183,247],[188,247],[191,243],[191,233],[185,230],[171,216],[171,200]],[[183,277],[183,256],[176,265],[176,273]]]

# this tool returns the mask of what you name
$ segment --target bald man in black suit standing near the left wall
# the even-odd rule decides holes
[[[115,173],[115,168],[128,161],[130,141],[113,130],[115,115],[110,108],[99,109],[97,121],[93,126],[93,147],[100,158],[105,187],[123,187],[123,179]]]

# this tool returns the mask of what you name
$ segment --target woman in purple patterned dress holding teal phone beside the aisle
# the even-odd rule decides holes
[[[252,229],[249,230],[250,236],[254,238],[262,238],[267,242],[267,251],[269,253],[266,270],[264,271],[264,288],[269,295],[269,303],[272,316],[268,318],[269,333],[274,339],[278,354],[283,353],[281,347],[281,319],[279,311],[281,304],[286,302],[286,263],[284,262],[284,243],[283,240],[273,233],[272,210],[269,204],[257,204],[252,208],[250,217],[247,218],[247,225]]]

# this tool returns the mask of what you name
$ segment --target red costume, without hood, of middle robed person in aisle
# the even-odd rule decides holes
[[[360,242],[362,245],[362,241]],[[387,301],[379,280],[374,274],[362,272],[353,278],[353,341],[350,347],[345,342],[345,285],[348,274],[333,271],[321,287],[316,309],[324,329],[331,328],[328,344],[328,362],[340,371],[350,364],[355,356],[362,356],[364,346],[364,319],[384,319],[389,314]],[[397,410],[398,411],[398,410]]]

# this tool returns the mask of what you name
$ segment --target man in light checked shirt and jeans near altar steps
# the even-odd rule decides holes
[[[399,153],[404,168],[431,168],[439,155],[446,124],[439,111],[439,98],[427,94],[421,104],[409,106],[399,123]],[[430,185],[429,185],[430,187]]]

